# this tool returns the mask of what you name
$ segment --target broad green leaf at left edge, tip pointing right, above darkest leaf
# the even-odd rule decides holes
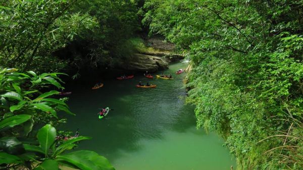
[[[4,119],[0,122],[0,129],[9,127],[12,128],[16,125],[20,125],[31,118],[30,115],[16,115],[9,118]]]

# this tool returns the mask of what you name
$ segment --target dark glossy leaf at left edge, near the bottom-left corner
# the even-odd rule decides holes
[[[0,149],[9,154],[21,154],[24,152],[22,143],[15,137],[0,138]]]

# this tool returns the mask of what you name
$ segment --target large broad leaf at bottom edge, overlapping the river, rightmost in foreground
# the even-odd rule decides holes
[[[114,170],[107,158],[89,150],[79,150],[58,155],[57,160],[67,161],[82,170]]]

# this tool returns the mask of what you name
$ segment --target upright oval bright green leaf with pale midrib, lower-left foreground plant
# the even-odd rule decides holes
[[[47,155],[49,147],[55,142],[56,135],[56,129],[52,125],[47,124],[39,130],[37,138],[45,155]]]

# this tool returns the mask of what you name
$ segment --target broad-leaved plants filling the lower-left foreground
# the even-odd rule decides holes
[[[72,112],[64,100],[52,97],[59,91],[40,92],[42,88],[63,89],[58,75],[0,70],[0,169],[55,170],[60,169],[59,165],[87,170],[114,169],[105,157],[93,151],[64,153],[74,148],[75,142],[90,138],[59,137],[54,126],[64,120],[58,120],[57,112]]]

